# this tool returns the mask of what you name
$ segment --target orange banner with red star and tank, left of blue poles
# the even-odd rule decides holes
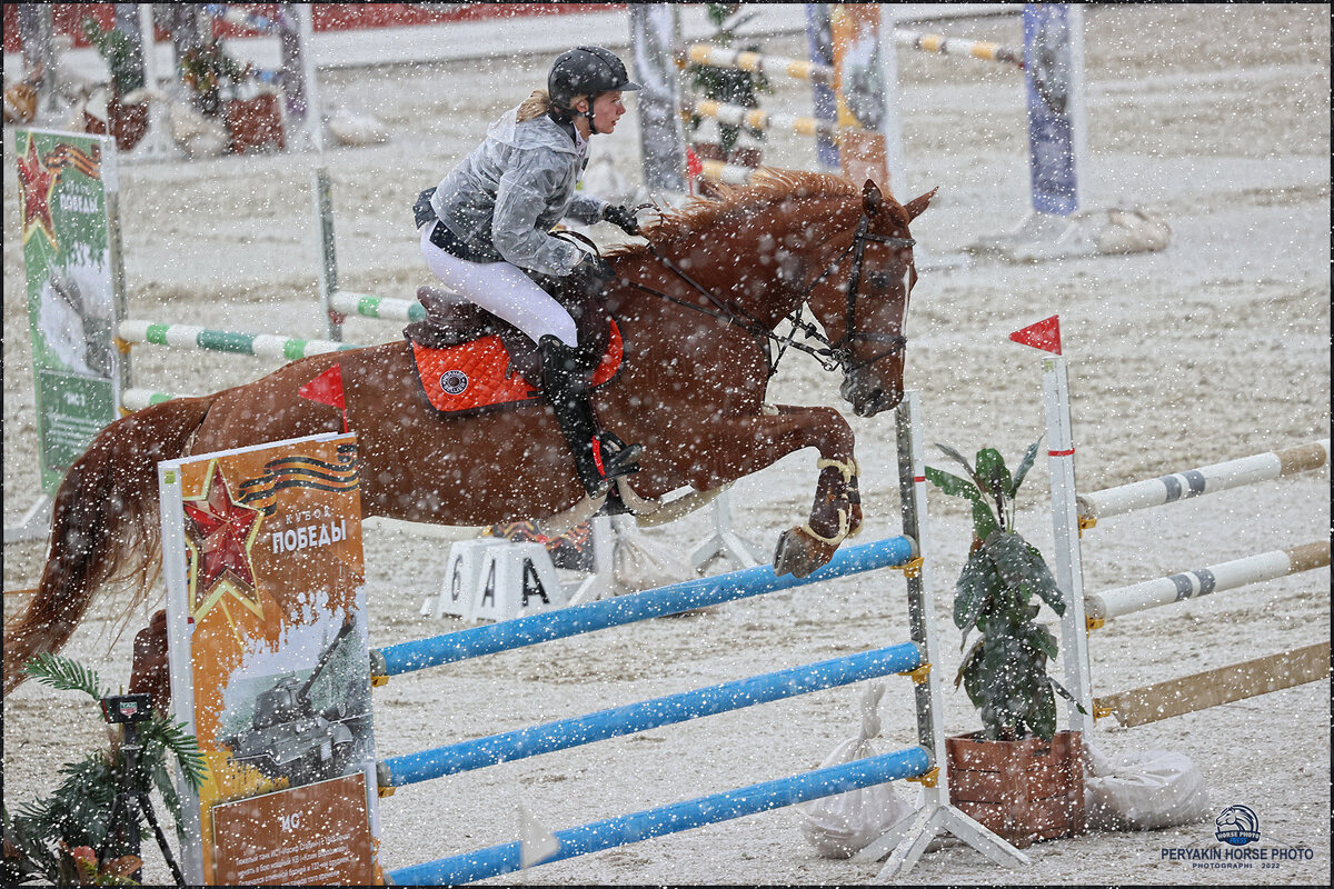
[[[375,737],[356,437],[159,464],[172,712],[192,884],[368,885]]]

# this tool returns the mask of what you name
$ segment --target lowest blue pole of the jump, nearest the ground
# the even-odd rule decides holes
[[[706,824],[742,818],[758,812],[796,805],[807,800],[819,800],[875,784],[912,778],[930,768],[931,757],[922,748],[914,746],[804,774],[752,784],[726,793],[623,814],[579,828],[558,830],[555,837],[560,842],[560,848],[538,864],[586,856],[614,846],[679,833]],[[519,842],[507,842],[439,861],[399,868],[391,870],[388,877],[395,885],[424,886],[471,882],[519,870],[520,853]]]

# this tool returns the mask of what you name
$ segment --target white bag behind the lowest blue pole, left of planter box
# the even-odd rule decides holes
[[[834,748],[820,762],[822,769],[882,753],[871,738],[880,733],[879,705],[883,694],[884,682],[866,685],[862,693],[862,733]],[[899,798],[892,784],[875,784],[795,808],[802,820],[802,836],[822,858],[848,858],[912,816],[912,806]]]

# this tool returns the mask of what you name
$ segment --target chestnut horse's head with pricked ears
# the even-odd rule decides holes
[[[850,227],[830,240],[828,264],[811,288],[811,312],[843,368],[839,392],[860,417],[903,400],[903,317],[918,277],[908,224],[934,195],[932,188],[904,205],[867,180],[860,213],[847,213]]]

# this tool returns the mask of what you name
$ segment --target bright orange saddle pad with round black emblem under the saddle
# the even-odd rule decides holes
[[[506,376],[510,353],[495,335],[444,349],[414,343],[412,356],[427,401],[444,413],[482,412],[542,397],[539,387],[519,373]],[[622,356],[620,328],[612,321],[607,353],[592,375],[595,387],[616,376]]]

